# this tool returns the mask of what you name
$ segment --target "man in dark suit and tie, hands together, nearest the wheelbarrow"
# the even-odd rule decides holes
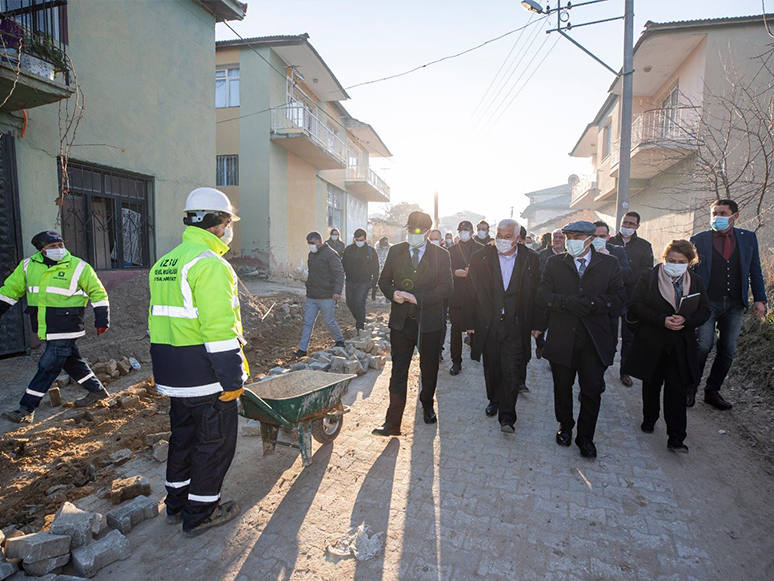
[[[438,381],[438,353],[443,336],[443,301],[452,294],[452,272],[449,252],[427,241],[433,224],[424,212],[409,215],[408,241],[390,247],[379,277],[379,288],[391,301],[390,405],[384,424],[376,428],[377,436],[399,436],[406,407],[409,367],[414,348],[419,350],[419,401],[426,424],[438,421],[433,409]]]

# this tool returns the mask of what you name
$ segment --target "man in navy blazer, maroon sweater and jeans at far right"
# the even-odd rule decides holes
[[[766,314],[766,285],[758,238],[754,232],[735,228],[734,222],[738,219],[739,206],[735,201],[716,200],[712,203],[712,229],[691,238],[699,253],[696,273],[704,282],[712,309],[712,316],[696,332],[702,374],[715,342],[715,329],[719,332],[715,361],[704,387],[704,401],[719,410],[731,409],[731,404],[720,395],[720,388],[734,362],[742,315],[750,307],[750,287],[753,313],[757,317]],[[689,407],[696,401],[698,387],[688,394]]]

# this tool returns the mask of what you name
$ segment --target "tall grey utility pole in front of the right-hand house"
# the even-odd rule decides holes
[[[618,156],[618,193],[615,207],[615,228],[621,227],[629,211],[629,182],[632,165],[632,99],[634,82],[634,0],[624,0],[624,66],[621,94],[621,151]]]

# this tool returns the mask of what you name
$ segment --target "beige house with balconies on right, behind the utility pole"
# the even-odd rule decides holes
[[[741,187],[766,179],[748,163],[760,167],[765,151],[739,146],[747,132],[730,113],[745,108],[740,87],[770,92],[771,74],[756,57],[771,42],[761,16],[645,25],[634,48],[630,208],[657,254],[670,240],[709,228],[708,204],[719,197],[741,202],[741,227],[768,230],[750,188]],[[620,95],[617,79],[570,153],[591,165],[572,188],[571,207],[611,224],[623,154]]]

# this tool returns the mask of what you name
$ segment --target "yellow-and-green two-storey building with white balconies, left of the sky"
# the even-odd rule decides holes
[[[370,160],[391,153],[342,106],[349,95],[308,35],[218,42],[215,85],[217,185],[242,216],[235,264],[301,271],[309,232],[336,227],[349,243],[368,204],[389,202]]]

